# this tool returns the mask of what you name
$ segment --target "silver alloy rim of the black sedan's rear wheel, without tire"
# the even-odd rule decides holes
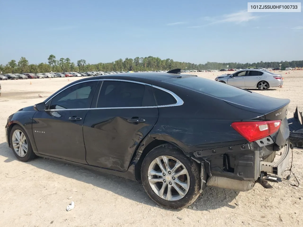
[[[182,199],[189,189],[190,179],[185,166],[172,156],[159,156],[148,167],[148,183],[161,199]]]

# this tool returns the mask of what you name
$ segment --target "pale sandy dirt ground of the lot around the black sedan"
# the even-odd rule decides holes
[[[196,74],[214,79],[222,73]],[[293,117],[297,105],[303,109],[303,71],[282,76],[283,88],[253,91],[289,98],[288,117]],[[77,79],[0,81],[0,226],[303,226],[301,185],[272,183],[273,189],[264,189],[256,184],[248,192],[209,187],[193,206],[170,210],[156,206],[140,183],[128,179],[43,158],[18,161],[5,142],[8,116]],[[292,168],[300,182],[302,151],[293,150]],[[67,212],[71,201],[75,208]]]

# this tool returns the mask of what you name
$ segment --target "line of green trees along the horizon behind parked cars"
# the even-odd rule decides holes
[[[7,64],[0,65],[2,73],[45,73],[45,72],[86,72],[86,71],[152,71],[152,70],[171,70],[181,68],[182,70],[205,70],[205,69],[225,69],[227,68],[268,68],[268,67],[303,67],[303,61],[273,61],[273,62],[257,62],[257,63],[218,63],[207,62],[205,64],[193,64],[190,62],[174,61],[173,59],[161,59],[158,57],[136,57],[121,58],[109,63],[89,64],[84,59],[78,60],[77,64],[71,62],[69,58],[56,59],[56,56],[51,54],[48,57],[48,62],[40,64],[29,64],[25,57],[21,57],[18,62],[15,60],[9,61]]]

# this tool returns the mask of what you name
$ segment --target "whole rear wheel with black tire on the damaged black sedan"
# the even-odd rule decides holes
[[[200,195],[200,168],[170,144],[157,146],[145,156],[141,179],[148,196],[166,208],[187,207]]]

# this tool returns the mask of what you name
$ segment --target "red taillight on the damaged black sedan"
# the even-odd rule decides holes
[[[233,122],[231,127],[241,134],[249,142],[253,142],[277,132],[281,120]]]

